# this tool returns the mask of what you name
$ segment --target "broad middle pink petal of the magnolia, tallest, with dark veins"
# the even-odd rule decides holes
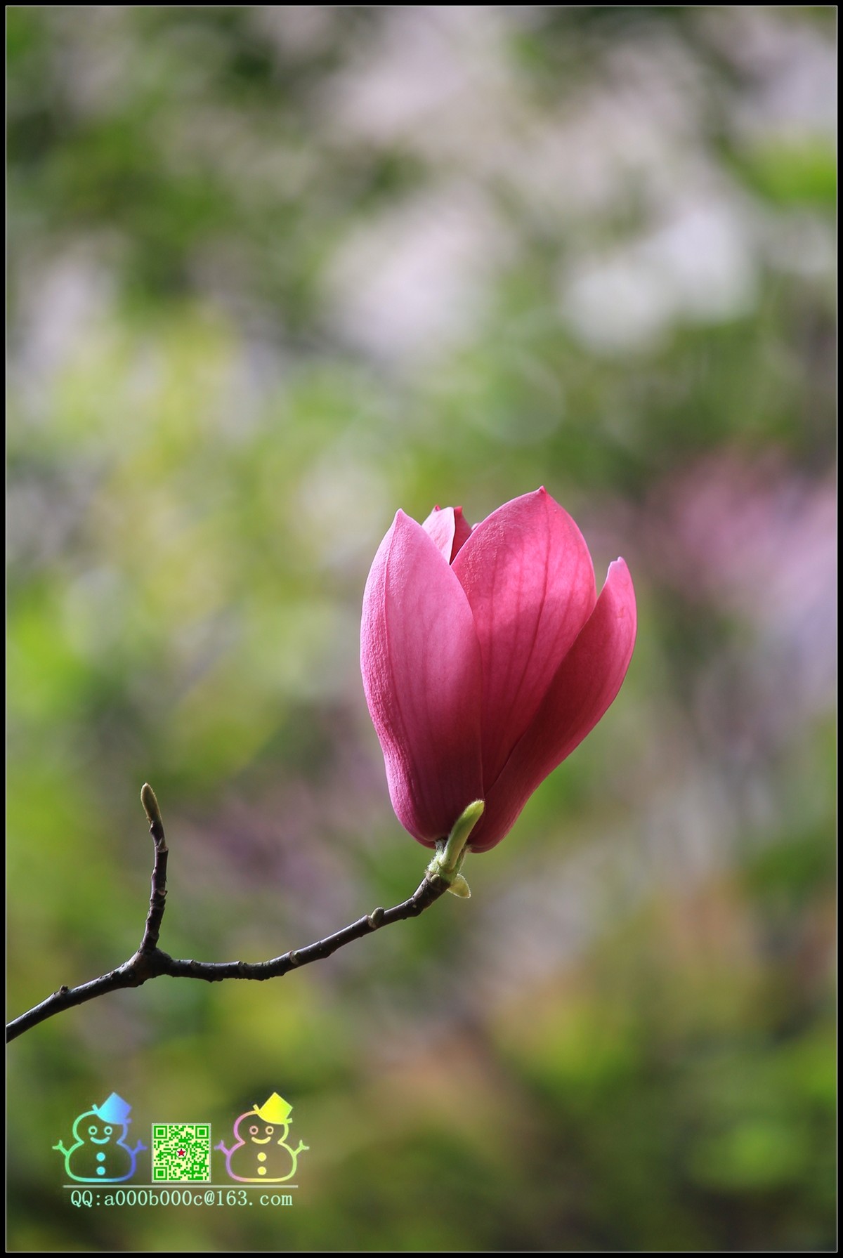
[[[471,604],[483,658],[488,795],[591,615],[594,566],[579,528],[542,488],[477,525],[453,570]]]

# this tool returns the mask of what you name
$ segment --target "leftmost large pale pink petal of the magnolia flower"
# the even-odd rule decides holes
[[[482,798],[481,653],[459,581],[403,511],[366,581],[360,667],[395,814],[433,847]]]

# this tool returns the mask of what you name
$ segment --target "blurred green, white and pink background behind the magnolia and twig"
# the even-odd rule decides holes
[[[545,484],[640,614],[471,902],[13,1045],[11,1249],[833,1248],[834,40],[8,9],[11,1014],[137,946],[145,780],[175,955],[413,891],[357,665],[399,506]],[[277,1089],[294,1208],[74,1211],[112,1089],[215,1140]]]

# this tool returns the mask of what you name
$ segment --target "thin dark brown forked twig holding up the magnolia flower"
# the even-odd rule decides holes
[[[6,1027],[6,1043],[23,1035],[39,1023],[45,1021],[54,1014],[73,1009],[87,1000],[96,1000],[108,991],[118,991],[121,988],[140,988],[148,979],[157,979],[166,974],[171,979],[204,979],[206,982],[220,982],[223,979],[279,979],[289,970],[297,970],[311,961],[322,961],[331,956],[337,949],[345,947],[354,940],[371,935],[372,931],[382,926],[391,926],[393,922],[403,922],[408,917],[418,917],[425,908],[429,908],[450,887],[448,876],[432,872],[424,878],[409,897],[393,908],[375,908],[356,922],[328,935],[323,940],[308,944],[307,947],[293,949],[282,956],[272,957],[269,961],[185,961],[171,957],[159,947],[159,935],[164,920],[164,910],[167,894],[167,843],[164,837],[164,823],[155,793],[148,784],[141,791],[141,801],[150,821],[150,834],[155,843],[155,862],[152,866],[152,887],[150,893],[150,910],[146,915],[143,936],[141,945],[128,961],[125,961],[116,970],[83,982],[78,988],[60,986],[47,1000],[29,1009],[20,1018],[15,1018]],[[482,810],[482,809],[481,809]],[[462,835],[461,835],[462,837]],[[464,840],[463,840],[464,842]],[[435,863],[435,858],[434,858]]]

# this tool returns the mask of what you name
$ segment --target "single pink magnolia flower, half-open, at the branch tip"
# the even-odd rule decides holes
[[[366,581],[360,664],[393,808],[425,847],[472,800],[487,852],[598,723],[635,643],[622,559],[600,598],[579,528],[542,488],[471,528],[399,511]]]

